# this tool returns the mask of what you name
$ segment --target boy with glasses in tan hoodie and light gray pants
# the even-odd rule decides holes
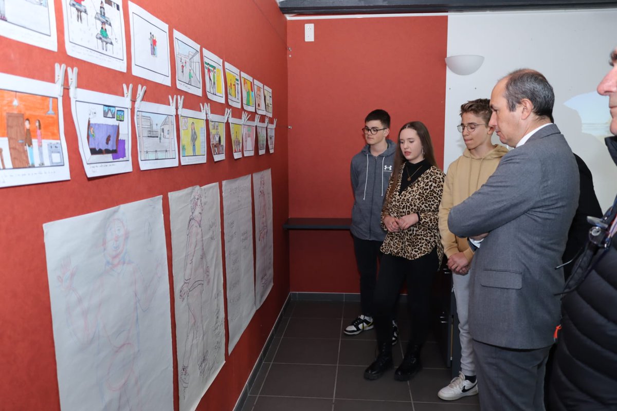
[[[473,348],[467,325],[469,268],[473,251],[467,243],[467,238],[457,237],[450,232],[448,214],[453,206],[462,203],[489,179],[501,158],[508,152],[502,145],[492,145],[491,136],[494,128],[489,127],[490,118],[489,99],[472,100],[461,106],[461,124],[458,126],[458,131],[462,132],[467,148],[448,168],[444,195],[439,206],[439,232],[448,259],[448,267],[452,270],[461,342],[461,372],[437,394],[446,401],[478,394]]]

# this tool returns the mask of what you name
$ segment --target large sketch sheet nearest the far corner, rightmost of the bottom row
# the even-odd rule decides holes
[[[255,307],[262,306],[274,280],[272,176],[270,169],[253,173],[255,198]]]

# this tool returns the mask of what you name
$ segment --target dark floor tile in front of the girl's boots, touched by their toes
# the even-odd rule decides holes
[[[408,385],[406,382],[394,381],[394,368],[375,381],[365,380],[364,370],[365,367],[339,365],[336,399],[407,401],[411,407]]]

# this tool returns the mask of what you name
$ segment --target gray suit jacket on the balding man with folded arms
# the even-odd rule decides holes
[[[471,261],[469,324],[482,343],[535,349],[553,343],[563,290],[561,256],[579,174],[555,124],[503,156],[495,173],[450,210],[459,237],[488,232]]]

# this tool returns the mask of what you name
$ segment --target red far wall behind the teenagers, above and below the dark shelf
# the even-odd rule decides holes
[[[304,41],[305,23],[315,41]],[[371,110],[392,117],[391,137],[420,120],[444,147],[447,17],[290,20],[289,216],[349,218],[349,163]],[[440,164],[440,166],[442,166]],[[291,291],[358,292],[349,232],[290,234]]]

